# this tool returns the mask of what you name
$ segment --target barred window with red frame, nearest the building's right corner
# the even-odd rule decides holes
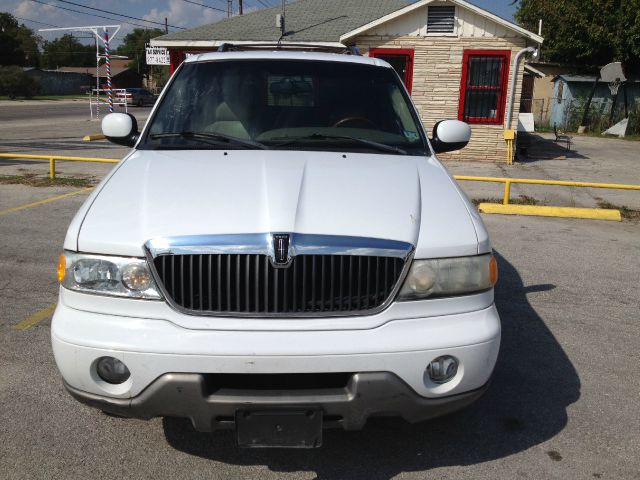
[[[476,124],[502,124],[510,57],[509,50],[465,50],[459,120]]]

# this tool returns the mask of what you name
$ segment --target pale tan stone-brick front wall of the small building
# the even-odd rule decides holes
[[[415,52],[413,65],[413,101],[418,108],[428,132],[438,120],[457,119],[460,101],[463,50],[512,50],[509,66],[509,82],[517,52],[525,48],[522,37],[382,37],[361,36],[356,39],[363,55],[371,48],[411,48]],[[513,106],[512,128],[516,128],[520,108],[520,90],[524,62],[520,64],[516,97]],[[509,108],[507,92],[506,110]],[[506,121],[506,120],[505,120]],[[472,125],[469,145],[463,150],[438,155],[448,160],[475,160],[482,162],[506,162],[507,146],[502,125]]]

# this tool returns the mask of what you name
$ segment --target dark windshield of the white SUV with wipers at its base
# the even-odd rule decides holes
[[[392,69],[303,60],[184,64],[139,148],[428,152]]]

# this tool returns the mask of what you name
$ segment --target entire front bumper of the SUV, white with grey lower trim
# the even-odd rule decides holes
[[[105,299],[63,289],[51,338],[68,390],[105,411],[140,418],[187,417],[196,428],[210,430],[233,419],[239,406],[314,406],[323,409],[326,422],[341,418],[344,428],[353,429],[371,415],[425,420],[479,396],[500,346],[500,319],[492,297],[488,300],[474,311],[432,316],[419,316],[424,307],[418,302],[394,304],[376,316],[342,318],[341,329],[334,329],[334,320],[322,325],[322,319],[253,319],[238,320],[246,328],[239,330],[231,329],[235,325],[229,319],[204,317],[203,328],[195,329],[179,324],[181,318],[174,321],[174,313],[160,311],[163,302]],[[139,309],[136,315],[125,314],[131,306]],[[142,316],[145,311],[148,317]],[[200,318],[188,320],[198,325]],[[363,325],[365,321],[371,325]],[[325,329],[302,330],[311,325]],[[425,374],[429,362],[441,355],[459,361],[456,376],[442,385]],[[104,356],[124,362],[131,377],[120,385],[101,380],[96,363]],[[250,388],[250,382],[249,388],[235,391],[211,389],[209,382],[211,375],[345,372],[348,382],[330,389],[312,384],[270,395]]]

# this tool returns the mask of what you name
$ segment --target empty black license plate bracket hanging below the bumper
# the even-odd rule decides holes
[[[249,448],[320,447],[322,410],[239,410],[236,441]]]

